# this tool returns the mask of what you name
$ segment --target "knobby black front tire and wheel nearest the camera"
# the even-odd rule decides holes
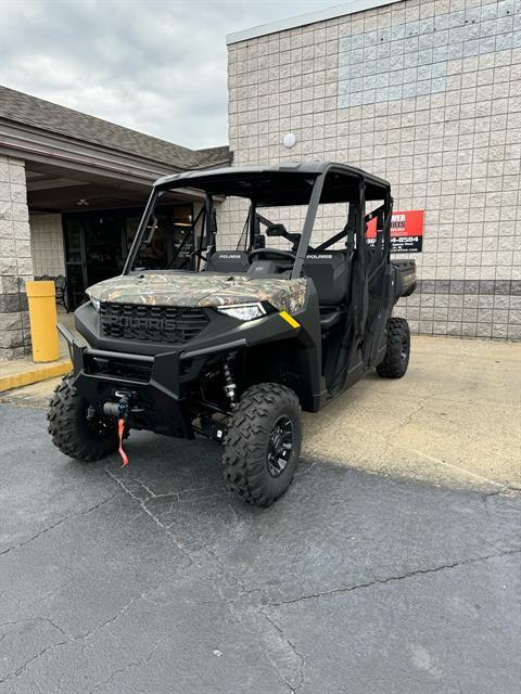
[[[223,457],[228,488],[246,503],[269,506],[293,479],[301,453],[298,398],[263,383],[249,388],[228,424]]]

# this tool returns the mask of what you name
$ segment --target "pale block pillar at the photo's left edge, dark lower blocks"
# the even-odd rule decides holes
[[[30,352],[26,280],[33,279],[24,163],[0,156],[0,360]]]

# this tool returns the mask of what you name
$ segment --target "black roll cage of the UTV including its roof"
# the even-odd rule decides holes
[[[367,224],[372,220],[376,220],[376,243],[370,249],[371,255],[369,255],[369,249],[361,254],[364,257],[367,256],[368,264],[364,262],[364,265],[367,265],[368,273],[370,274],[374,266],[380,266],[385,258],[389,258],[393,200],[390,183],[384,179],[355,167],[330,162],[269,167],[226,167],[209,171],[175,174],[155,182],[123,274],[130,272],[147,230],[150,229],[148,239],[154,233],[155,205],[165,193],[179,189],[195,189],[203,192],[204,205],[193,219],[191,227],[187,229],[169,267],[177,260],[193,233],[194,250],[181,264],[180,269],[193,259],[195,260],[195,269],[201,269],[201,261],[206,261],[216,249],[218,230],[214,201],[217,197],[223,200],[229,195],[250,201],[250,209],[244,224],[247,240],[246,249],[258,247],[256,243],[260,233],[260,224],[266,227],[268,235],[280,235],[293,243],[295,258],[291,268],[291,279],[302,277],[303,266],[310,250],[327,250],[344,239],[345,247],[348,250],[365,249]],[[366,214],[366,204],[371,201],[383,201],[383,203]],[[350,203],[350,211],[344,228],[314,247],[310,242],[317,210],[319,205],[325,203]],[[271,223],[269,219],[257,211],[260,206],[284,207],[291,205],[307,205],[302,231],[298,233],[288,232],[281,224]],[[198,224],[200,229],[196,234]]]

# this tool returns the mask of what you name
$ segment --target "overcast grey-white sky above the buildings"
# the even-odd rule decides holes
[[[0,0],[0,81],[177,144],[226,144],[226,35],[335,4]]]

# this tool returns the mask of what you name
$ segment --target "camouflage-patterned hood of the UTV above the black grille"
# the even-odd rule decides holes
[[[293,313],[304,305],[306,280],[256,279],[206,272],[142,272],[123,274],[93,284],[90,298],[115,304],[215,307],[269,301]]]

